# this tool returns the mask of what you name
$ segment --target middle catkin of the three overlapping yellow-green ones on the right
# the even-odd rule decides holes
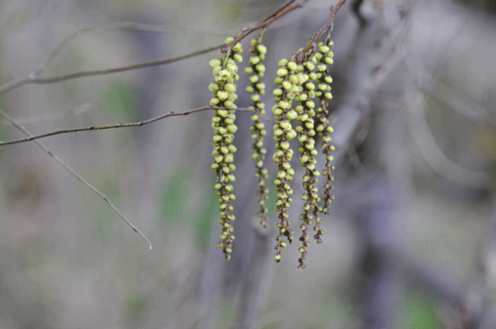
[[[303,71],[298,74],[298,79],[301,79],[303,91],[295,100],[300,103],[296,106],[295,110],[298,112],[298,121],[300,125],[295,128],[298,133],[298,141],[301,143],[298,151],[300,152],[300,163],[301,166],[305,167],[305,175],[303,175],[303,189],[305,193],[301,197],[305,201],[303,206],[303,214],[300,215],[300,220],[303,224],[300,225],[302,235],[300,236],[300,241],[302,246],[298,248],[301,253],[301,257],[298,259],[300,265],[298,267],[305,268],[305,258],[307,255],[307,250],[305,248],[310,246],[308,242],[307,226],[312,224],[312,218],[315,217],[317,223],[320,222],[320,217],[318,216],[320,208],[317,202],[320,202],[320,197],[318,196],[317,177],[320,172],[315,168],[315,163],[317,163],[318,152],[315,149],[315,103],[312,98],[315,98],[315,79],[317,78],[315,72],[316,59],[311,53],[305,56],[303,62]]]

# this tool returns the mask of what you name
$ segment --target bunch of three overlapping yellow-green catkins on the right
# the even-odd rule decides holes
[[[303,205],[303,214],[300,215],[302,235],[299,238],[302,246],[298,248],[301,253],[298,266],[302,268],[306,267],[306,248],[310,246],[307,232],[308,226],[315,219],[315,226],[313,227],[315,235],[313,237],[317,240],[317,243],[322,243],[321,236],[324,231],[320,228],[320,213],[327,214],[330,203],[334,198],[331,194],[331,184],[332,180],[334,180],[332,177],[331,151],[334,151],[334,146],[332,146],[332,139],[329,137],[329,133],[333,132],[333,130],[329,126],[329,120],[327,119],[327,115],[329,115],[327,100],[332,98],[330,92],[332,78],[327,69],[327,65],[332,64],[332,57],[334,56],[330,50],[331,46],[332,41],[327,39],[325,42],[320,42],[317,47],[309,50],[308,53],[297,56],[301,64],[297,64],[294,57],[290,62],[281,61],[279,64],[281,68],[278,69],[278,77],[276,78],[276,84],[279,86],[274,90],[274,96],[276,96],[276,105],[273,108],[274,115],[276,115],[274,140],[277,143],[274,161],[278,163],[279,167],[276,178],[278,190],[276,209],[280,212],[279,218],[281,219],[278,224],[279,235],[276,238],[278,241],[276,261],[281,258],[281,247],[286,246],[286,243],[282,241],[282,236],[286,234],[288,241],[293,240],[291,236],[293,231],[289,229],[290,221],[287,213],[291,203],[290,195],[293,192],[288,181],[293,178],[294,174],[290,164],[293,151],[289,147],[289,140],[298,133],[300,163],[305,168],[302,196],[305,204]],[[293,100],[298,103],[294,110]],[[294,130],[291,125],[291,120],[293,119],[297,119],[299,122]],[[315,147],[315,141],[317,137],[322,137],[322,153],[327,158],[325,170],[322,171],[322,175],[327,178],[322,197],[319,196],[316,185],[317,177],[320,175],[320,171],[316,168],[318,151]],[[286,168],[289,168],[291,173],[288,174]],[[321,200],[323,200],[323,206],[320,205]]]

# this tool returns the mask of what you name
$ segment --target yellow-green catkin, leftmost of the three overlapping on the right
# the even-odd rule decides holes
[[[296,64],[294,59],[290,61],[281,59],[277,70],[277,78],[274,81],[278,87],[274,89],[274,100],[276,105],[272,108],[275,115],[276,125],[274,125],[274,142],[276,142],[276,151],[274,152],[274,162],[278,163],[278,173],[275,180],[276,190],[278,192],[276,201],[276,210],[279,212],[278,218],[281,220],[277,226],[279,234],[276,237],[276,262],[281,260],[281,248],[286,246],[283,236],[288,238],[288,242],[293,241],[293,230],[289,228],[291,222],[288,220],[288,208],[292,202],[291,195],[293,190],[289,181],[293,179],[295,171],[291,168],[291,158],[293,150],[289,141],[296,137],[296,132],[291,125],[291,120],[298,117],[298,113],[291,108],[293,99],[299,95],[302,90],[303,65]]]

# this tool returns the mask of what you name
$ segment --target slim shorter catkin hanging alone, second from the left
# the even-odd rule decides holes
[[[255,172],[255,177],[259,179],[259,190],[257,194],[260,196],[259,199],[259,217],[261,218],[260,224],[266,227],[268,220],[267,217],[267,207],[266,200],[269,198],[269,189],[265,185],[266,178],[269,177],[266,168],[264,167],[264,160],[266,149],[264,149],[264,136],[266,134],[264,122],[262,122],[260,115],[265,114],[264,103],[261,101],[261,96],[265,93],[265,83],[261,82],[260,79],[264,77],[265,66],[264,59],[267,52],[267,48],[261,45],[261,37],[252,40],[252,52],[253,56],[249,59],[249,66],[244,70],[245,73],[251,74],[249,77],[249,86],[247,86],[247,92],[252,94],[252,105],[249,108],[254,109],[254,114],[252,115],[253,125],[250,127],[252,133],[252,139],[254,143],[252,144],[252,149],[254,152],[252,158],[255,159],[255,167],[257,171]]]

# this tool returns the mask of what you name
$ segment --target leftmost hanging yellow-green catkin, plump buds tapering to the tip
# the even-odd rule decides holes
[[[226,44],[230,45],[234,38],[229,37]],[[237,74],[236,62],[242,62],[242,48],[239,43],[233,45],[230,52],[226,52],[222,60],[213,59],[210,61],[210,66],[213,69],[214,82],[210,83],[210,91],[214,93],[214,97],[210,100],[210,104],[215,106],[214,116],[212,118],[213,134],[213,156],[215,162],[212,169],[215,171],[217,181],[215,189],[219,196],[220,204],[220,224],[222,233],[220,238],[222,241],[219,247],[222,248],[227,260],[230,259],[232,253],[232,241],[235,239],[234,228],[232,221],[235,220],[232,214],[232,204],[235,199],[232,193],[232,182],[235,180],[234,153],[236,146],[232,144],[237,126],[235,125],[235,108],[234,101],[237,99],[235,80],[239,79]]]

